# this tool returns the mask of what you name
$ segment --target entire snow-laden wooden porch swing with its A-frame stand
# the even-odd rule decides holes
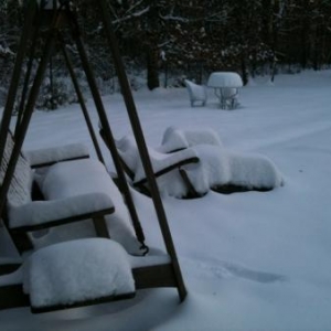
[[[75,160],[68,162],[56,162],[54,166],[51,166],[49,168],[46,173],[49,175],[49,173],[52,172],[52,175],[53,177],[55,175],[55,180],[53,181],[53,183],[55,182],[56,184],[58,184],[62,182],[63,184],[71,185],[71,182],[74,181],[74,179],[71,178],[71,173],[73,170],[72,167],[75,167],[73,164],[74,162],[76,162],[77,163],[76,169],[83,167],[85,170],[89,169],[89,171],[93,172],[90,178],[98,177],[98,174],[96,174],[96,172],[98,172],[95,170],[96,168],[103,169],[100,170],[102,174],[99,177],[99,181],[104,182],[105,185],[107,185],[107,190],[109,189],[109,186],[111,186],[111,190],[116,190],[115,185],[113,184],[108,185],[106,183],[113,181],[110,179],[110,175],[108,175],[107,180],[105,179],[105,167],[103,167],[104,159],[100,149],[98,147],[98,142],[71,63],[71,58],[68,56],[68,53],[66,52],[66,47],[63,39],[63,30],[64,30],[63,28],[70,28],[70,31],[72,32],[72,38],[77,49],[77,53],[79,55],[79,60],[82,62],[83,70],[86,74],[87,83],[89,85],[92,96],[97,109],[99,122],[104,128],[104,135],[106,136],[106,139],[110,147],[111,158],[118,175],[119,188],[125,197],[125,202],[129,213],[129,218],[132,221],[137,239],[140,243],[141,252],[142,252],[141,255],[145,254],[145,256],[132,256],[128,254],[127,249],[124,248],[124,245],[121,245],[121,243],[117,243],[115,239],[113,239],[111,226],[110,228],[108,226],[111,239],[102,238],[102,237],[107,237],[107,229],[102,227],[102,229],[98,231],[96,228],[96,233],[99,236],[97,238],[77,239],[77,241],[72,241],[66,243],[56,243],[54,245],[35,249],[30,255],[29,258],[26,259],[22,258],[22,266],[20,266],[20,264],[17,265],[18,269],[15,269],[12,273],[3,271],[8,266],[1,269],[1,259],[0,259],[0,275],[6,274],[3,276],[0,276],[0,309],[8,309],[8,308],[21,307],[21,306],[32,306],[32,310],[35,312],[50,311],[54,309],[78,307],[78,306],[85,306],[85,305],[90,305],[96,302],[104,302],[107,300],[127,298],[134,296],[136,289],[151,288],[151,287],[174,287],[178,289],[178,293],[181,301],[184,300],[186,296],[186,289],[181,275],[181,269],[178,261],[171,232],[168,225],[167,215],[158,191],[156,178],[153,175],[152,166],[148,154],[148,149],[143,138],[143,132],[140,126],[139,117],[136,110],[136,106],[128,84],[128,79],[126,77],[124,65],[121,63],[121,57],[118,51],[117,41],[111,28],[111,19],[107,10],[106,1],[98,0],[96,1],[96,3],[97,3],[97,8],[99,9],[106,38],[111,51],[113,61],[117,70],[117,75],[124,95],[124,100],[128,111],[132,132],[137,141],[137,146],[143,163],[145,172],[147,174],[151,197],[159,221],[159,226],[163,236],[167,254],[160,256],[146,254],[148,247],[145,245],[145,235],[138,218],[138,214],[130,194],[128,183],[126,181],[125,172],[121,168],[120,159],[116,149],[110,125],[107,119],[107,115],[95,82],[95,77],[92,72],[89,61],[84,49],[83,41],[81,39],[79,26],[77,23],[76,11],[73,1],[29,0],[26,1],[24,26],[22,30],[15,65],[12,73],[11,85],[8,92],[8,100],[3,110],[1,126],[0,126],[0,161],[1,161],[1,180],[2,180],[1,190],[0,190],[1,215],[2,217],[4,217],[3,214],[7,210],[8,196],[9,196],[8,194],[10,193],[10,191],[11,190],[15,191],[17,188],[19,188],[19,190],[21,189],[21,184],[22,184],[21,181],[19,180],[17,182],[17,179],[18,178],[20,179],[20,174],[18,175],[18,171],[20,169],[20,167],[18,167],[18,162],[20,162],[20,159],[22,157],[21,149],[25,138],[25,134],[32,118],[40,86],[42,84],[43,76],[47,63],[50,61],[50,57],[52,55],[52,52],[54,50],[55,43],[60,44],[61,50],[63,52],[68,72],[71,74],[78,97],[78,102],[82,106],[82,110],[87,124],[89,135],[92,137],[99,160],[97,161],[97,160],[84,159],[84,160]],[[34,77],[32,77],[33,78],[32,87],[29,90],[28,86],[31,79],[30,76],[31,76],[31,67],[32,67],[32,61],[34,55],[35,41],[38,40],[38,38],[41,38],[40,34],[41,24],[44,23],[45,20],[51,23],[49,23],[46,28],[47,33],[45,34],[43,32],[43,35],[45,35],[43,54],[38,64],[36,73]],[[42,29],[45,29],[45,26],[43,25]],[[12,137],[13,139],[10,142],[9,141],[11,139],[10,124],[13,115],[14,103],[17,100],[18,87],[21,77],[23,61],[26,54],[29,54],[28,70],[24,77],[24,86],[21,94],[20,110],[15,122],[15,129]],[[8,146],[11,146],[10,150],[8,150]],[[97,163],[97,166],[95,166],[95,163]],[[61,168],[61,170],[58,170],[58,168]],[[65,169],[63,170],[62,168],[65,168],[66,170]],[[50,169],[52,169],[52,171],[50,171]],[[66,177],[63,178],[64,173],[66,174]],[[56,175],[61,175],[61,178],[58,177],[56,178]],[[15,186],[13,185],[13,182],[15,182],[17,184]],[[90,184],[88,184],[88,186],[90,186]],[[99,186],[99,184],[97,184],[97,186]],[[26,188],[23,189],[26,190]],[[90,190],[90,188],[88,188],[88,190]],[[62,192],[63,195],[61,196],[54,196],[54,194],[55,195],[58,194],[58,190],[55,191],[56,193],[51,192],[50,194],[50,195],[53,194],[53,197],[52,196],[50,197],[51,203],[53,203],[53,200],[57,201],[57,199],[66,200],[68,195],[67,192],[71,191],[71,188],[66,188],[65,190],[62,190],[64,193]],[[107,192],[109,192],[109,190]],[[83,195],[85,194],[85,192],[81,192],[81,193]],[[109,197],[110,200],[113,200],[113,196]],[[117,199],[115,200],[116,201],[114,202],[118,201]],[[31,202],[31,204],[33,203],[34,201]],[[114,203],[114,206],[116,212],[117,204]],[[23,209],[25,209],[25,205],[23,205]],[[26,211],[28,210],[29,209],[26,209]],[[60,210],[62,210],[61,205],[60,205]],[[108,211],[108,213],[106,214],[111,214],[114,212],[111,207],[108,207],[106,210]],[[54,212],[56,211],[54,210]],[[20,216],[22,216],[22,214],[23,213],[19,213]],[[90,216],[90,214],[88,215]],[[75,217],[74,221],[79,222],[81,218],[78,220],[77,217]],[[54,224],[54,222],[53,223],[52,222],[49,222],[50,224],[47,226],[38,224],[35,228],[34,228],[35,224],[32,225],[30,224],[28,227],[21,226],[21,229],[25,228],[28,232],[28,231],[47,228],[53,225],[60,225],[60,224]],[[0,226],[6,226],[13,242],[17,241],[15,238],[17,232],[10,228],[8,222],[4,222],[2,220],[2,224],[0,223]],[[20,249],[20,250],[21,253],[23,253],[24,249]],[[64,261],[67,265],[66,267],[63,267]],[[88,279],[88,281],[79,282],[75,280],[75,276],[82,274],[86,274],[85,280]],[[117,277],[116,275],[118,274],[121,275],[122,277]],[[57,279],[57,282],[54,280],[54,278]],[[116,284],[115,278],[121,279],[122,282]],[[24,285],[24,289],[23,289],[23,285]],[[66,290],[65,290],[65,286],[66,286]],[[76,290],[73,291],[75,287]],[[64,293],[64,295],[62,296],[60,293]]]

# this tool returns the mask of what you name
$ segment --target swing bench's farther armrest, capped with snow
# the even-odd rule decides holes
[[[24,151],[31,168],[49,167],[61,161],[89,158],[88,148],[83,143]]]

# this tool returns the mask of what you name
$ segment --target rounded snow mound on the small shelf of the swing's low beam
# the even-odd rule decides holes
[[[23,288],[34,312],[131,298],[136,291],[128,254],[105,238],[36,250],[24,263]]]

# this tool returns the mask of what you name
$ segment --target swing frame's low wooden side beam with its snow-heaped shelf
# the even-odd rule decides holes
[[[167,254],[132,256],[115,241],[83,238],[40,248],[18,270],[0,275],[0,310],[30,306],[33,312],[46,312],[175,286]]]

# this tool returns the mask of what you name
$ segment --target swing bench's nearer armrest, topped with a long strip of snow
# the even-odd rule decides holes
[[[88,193],[50,201],[32,201],[8,209],[11,228],[35,231],[115,212],[109,195]]]

